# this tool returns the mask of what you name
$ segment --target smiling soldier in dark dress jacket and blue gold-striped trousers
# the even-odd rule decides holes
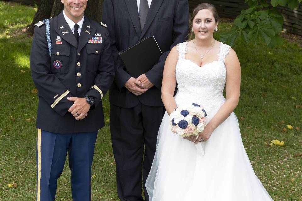
[[[73,201],[91,200],[91,165],[102,98],[114,79],[106,24],[84,16],[87,0],[61,0],[57,17],[35,24],[30,65],[38,90],[37,201],[55,199],[68,151]]]

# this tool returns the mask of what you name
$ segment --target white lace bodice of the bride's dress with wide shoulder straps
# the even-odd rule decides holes
[[[218,60],[205,64],[203,67],[185,59],[187,43],[177,44],[179,54],[176,64],[176,81],[178,91],[175,96],[176,104],[184,105],[197,103],[207,111],[219,109],[226,101],[222,95],[226,83],[225,57],[230,46],[220,42]]]

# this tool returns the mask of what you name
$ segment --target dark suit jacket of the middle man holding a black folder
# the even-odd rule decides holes
[[[172,47],[185,41],[187,36],[188,1],[152,0],[141,31],[136,0],[105,0],[103,21],[109,30],[115,60],[115,80],[109,91],[110,102],[125,108],[134,107],[138,102],[148,106],[163,106],[161,84],[165,59]],[[154,86],[142,95],[136,96],[124,87],[131,76],[127,73],[118,52],[149,35],[154,35],[163,54],[159,62],[146,73]]]

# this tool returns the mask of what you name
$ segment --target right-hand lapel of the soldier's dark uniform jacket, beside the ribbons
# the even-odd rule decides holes
[[[85,16],[79,39],[78,52],[80,52],[87,42],[94,36],[96,30],[97,28],[93,28],[89,19]]]

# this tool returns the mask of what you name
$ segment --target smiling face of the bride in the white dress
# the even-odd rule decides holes
[[[218,22],[215,21],[210,9],[199,10],[193,19],[193,32],[196,39],[212,39]]]

